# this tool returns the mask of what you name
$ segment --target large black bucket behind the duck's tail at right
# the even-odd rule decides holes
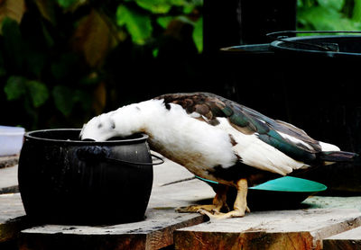
[[[289,121],[310,136],[361,152],[361,36],[274,40]]]

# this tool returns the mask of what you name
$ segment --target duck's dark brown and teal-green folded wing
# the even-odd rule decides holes
[[[319,142],[310,138],[303,130],[284,121],[275,121],[216,94],[164,94],[156,99],[163,99],[166,105],[180,104],[188,113],[198,112],[207,118],[210,124],[217,124],[214,121],[217,121],[218,117],[226,117],[235,129],[245,134],[256,133],[265,143],[295,160],[310,163],[316,159],[316,153],[321,151]],[[280,132],[289,138],[282,137]]]

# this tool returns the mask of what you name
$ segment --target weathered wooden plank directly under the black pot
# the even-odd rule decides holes
[[[198,214],[148,210],[140,222],[103,227],[46,225],[22,231],[21,249],[160,249],[173,244],[173,231],[199,224]]]

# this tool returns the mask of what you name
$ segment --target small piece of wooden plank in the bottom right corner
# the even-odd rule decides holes
[[[323,240],[325,250],[361,250],[361,227],[348,230]]]

